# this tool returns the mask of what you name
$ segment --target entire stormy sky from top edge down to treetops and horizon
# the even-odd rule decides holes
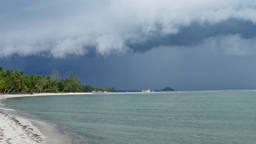
[[[255,0],[0,0],[0,66],[116,90],[256,88]]]

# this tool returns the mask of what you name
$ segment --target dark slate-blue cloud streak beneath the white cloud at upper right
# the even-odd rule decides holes
[[[192,23],[190,26],[181,27],[177,34],[166,36],[155,36],[143,44],[128,44],[134,52],[145,52],[159,46],[196,46],[204,43],[208,38],[236,35],[243,39],[253,39],[256,37],[256,25],[249,21],[239,21],[229,19],[215,25],[201,26]]]

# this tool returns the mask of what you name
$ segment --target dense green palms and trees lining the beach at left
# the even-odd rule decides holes
[[[115,88],[94,88],[90,85],[81,84],[78,76],[70,72],[68,78],[59,77],[57,70],[52,71],[52,76],[24,74],[23,70],[2,69],[0,66],[0,94],[26,94],[42,92],[91,92],[107,91],[115,92]]]

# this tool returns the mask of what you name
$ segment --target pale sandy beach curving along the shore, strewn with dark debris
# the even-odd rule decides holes
[[[44,93],[0,95],[0,100],[28,96],[77,95],[91,93]],[[68,138],[56,134],[53,125],[17,117],[11,111],[0,109],[0,143],[2,144],[63,144]],[[15,115],[15,116],[14,116]]]

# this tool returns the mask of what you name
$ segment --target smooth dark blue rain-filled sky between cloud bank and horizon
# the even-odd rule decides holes
[[[227,57],[201,47],[160,47],[123,56],[86,56],[66,60],[36,56],[0,60],[4,68],[24,70],[25,74],[49,75],[70,71],[82,84],[117,90],[220,90],[255,88],[256,58]]]

